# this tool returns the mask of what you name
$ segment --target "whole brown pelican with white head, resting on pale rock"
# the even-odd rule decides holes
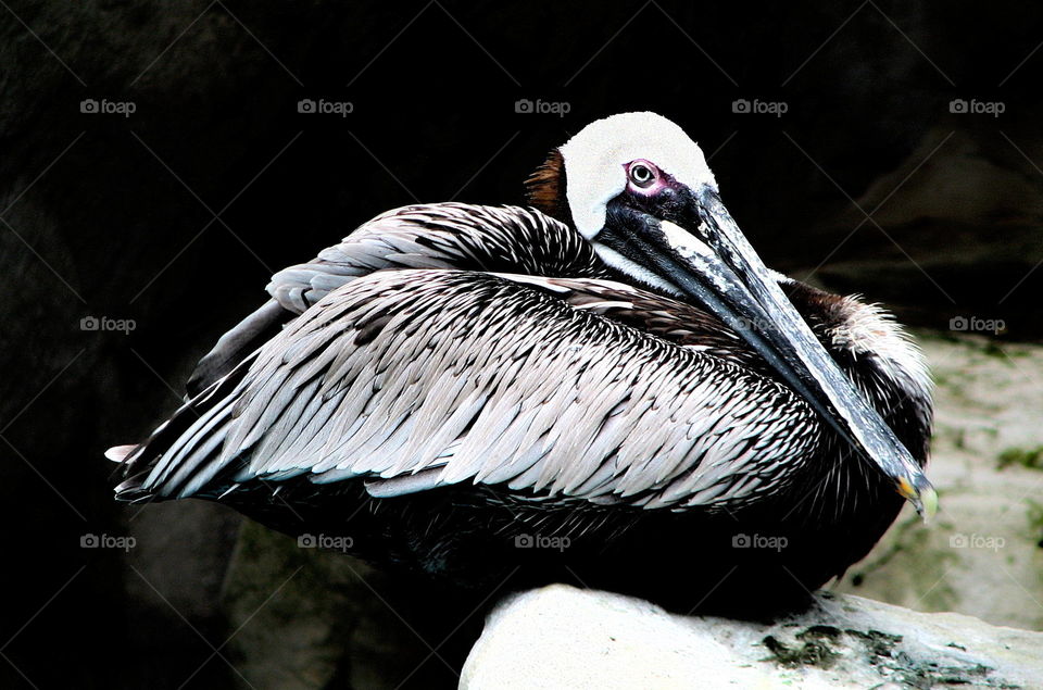
[[[803,599],[904,501],[934,512],[919,350],[766,268],[678,125],[596,121],[527,198],[397,209],[277,273],[184,406],[106,453],[117,499],[686,610]]]

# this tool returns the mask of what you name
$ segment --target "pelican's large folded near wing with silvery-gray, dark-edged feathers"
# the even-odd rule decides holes
[[[799,468],[819,425],[787,388],[590,306],[642,300],[666,298],[458,271],[359,278],[265,344],[144,488],[307,474],[381,497],[485,484],[665,507],[745,500],[764,463]]]

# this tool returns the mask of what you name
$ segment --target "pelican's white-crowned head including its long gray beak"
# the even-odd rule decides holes
[[[530,203],[571,224],[601,259],[716,314],[929,517],[920,465],[815,338],[743,236],[702,150],[654,113],[599,120],[551,153]]]

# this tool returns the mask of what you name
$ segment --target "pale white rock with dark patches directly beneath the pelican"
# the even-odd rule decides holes
[[[554,585],[489,615],[460,687],[1040,688],[1041,649],[1040,632],[854,595],[763,624]]]

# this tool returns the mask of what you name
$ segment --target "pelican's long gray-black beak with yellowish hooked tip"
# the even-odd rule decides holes
[[[812,334],[717,192],[706,189],[689,201],[684,210],[675,206],[665,214],[670,221],[638,214],[645,227],[627,235],[631,256],[640,256],[649,271],[746,340],[843,439],[894,480],[925,519],[931,517],[938,494],[919,464]],[[657,227],[648,227],[650,219]]]

